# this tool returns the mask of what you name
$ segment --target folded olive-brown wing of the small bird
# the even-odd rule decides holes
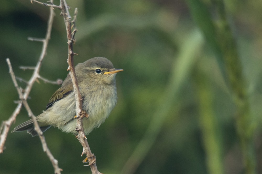
[[[48,104],[46,105],[46,109],[51,107],[56,101],[61,100],[62,98],[68,96],[73,91],[74,91],[74,88],[73,88],[73,84],[71,81],[71,77],[70,75],[68,75],[65,78],[62,86],[59,89],[57,89],[57,91],[50,98]]]

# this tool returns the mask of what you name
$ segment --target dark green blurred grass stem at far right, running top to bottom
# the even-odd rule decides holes
[[[208,6],[200,0],[187,0],[187,2],[193,18],[204,33],[209,45],[216,53],[217,60],[223,63],[223,66],[220,66],[222,67],[221,71],[225,74],[225,80],[231,87],[232,100],[237,106],[235,122],[242,148],[245,172],[256,173],[253,144],[254,127],[250,115],[246,81],[243,77],[236,42],[227,21],[224,3],[222,0],[211,1],[209,7],[212,9],[211,14]],[[215,17],[211,18],[211,16]]]

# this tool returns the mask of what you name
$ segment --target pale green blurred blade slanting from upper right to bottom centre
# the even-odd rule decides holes
[[[184,81],[190,74],[198,57],[197,55],[201,52],[202,45],[203,38],[198,30],[194,30],[189,34],[188,38],[185,38],[185,42],[181,44],[180,53],[177,59],[174,59],[170,80],[164,90],[163,97],[160,99],[159,107],[154,112],[155,114],[152,116],[143,138],[126,162],[121,173],[134,173],[151,149],[168,116],[168,112],[177,102],[179,89],[184,85]]]

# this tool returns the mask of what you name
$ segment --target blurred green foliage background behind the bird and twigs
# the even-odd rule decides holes
[[[78,8],[75,64],[100,56],[124,69],[117,106],[88,135],[100,172],[262,173],[262,1],[67,3],[72,15]],[[68,73],[65,26],[55,13],[40,70],[50,80]],[[1,1],[0,120],[18,100],[5,60],[17,76],[30,78],[32,71],[19,66],[35,66],[42,43],[27,37],[45,36],[48,15],[29,0]],[[28,102],[35,115],[58,87],[34,84]],[[11,129],[26,120],[22,109]],[[74,135],[55,128],[44,135],[62,173],[91,173]],[[5,146],[0,173],[53,173],[38,137],[10,133]]]

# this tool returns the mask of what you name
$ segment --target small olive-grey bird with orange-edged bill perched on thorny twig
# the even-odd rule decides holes
[[[110,115],[117,103],[116,73],[123,69],[114,68],[104,57],[94,57],[75,66],[75,74],[82,97],[82,109],[89,115],[83,119],[84,132],[88,135],[98,128]],[[56,127],[63,132],[76,131],[76,104],[70,72],[61,87],[50,98],[46,110],[36,117],[42,132]],[[32,119],[18,125],[12,132],[25,131],[38,135]]]

